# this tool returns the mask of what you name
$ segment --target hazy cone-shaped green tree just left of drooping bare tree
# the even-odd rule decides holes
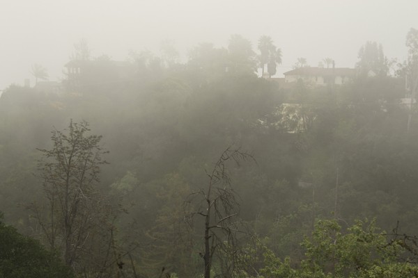
[[[156,196],[155,220],[145,232],[148,247],[139,252],[141,272],[153,275],[156,270],[176,272],[181,277],[194,277],[200,265],[198,252],[193,250],[192,227],[185,222],[185,198],[189,185],[179,174],[168,174],[149,185],[149,193]],[[141,225],[144,227],[144,225]]]

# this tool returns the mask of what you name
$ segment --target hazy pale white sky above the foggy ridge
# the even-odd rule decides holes
[[[256,48],[270,35],[282,50],[281,74],[297,57],[354,67],[367,40],[403,60],[411,27],[418,28],[418,0],[0,0],[0,90],[31,78],[34,63],[59,80],[82,38],[92,56],[125,60],[130,49],[157,53],[166,39],[185,57],[199,42],[226,47],[238,33]]]

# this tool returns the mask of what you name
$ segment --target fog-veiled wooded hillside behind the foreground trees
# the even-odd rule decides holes
[[[417,48],[415,38],[412,29],[407,39],[411,58]],[[279,61],[274,65],[269,62],[280,57],[277,48],[272,52],[271,44],[271,38],[263,37],[258,57],[270,74]],[[85,119],[103,135],[100,144],[111,149],[107,158],[112,165],[100,165],[101,182],[89,189],[89,202],[76,195],[77,186],[72,186],[70,196],[79,198],[83,208],[94,207],[99,213],[94,220],[102,220],[109,212],[108,207],[93,206],[107,204],[103,195],[95,193],[108,193],[112,204],[122,204],[128,213],[111,222],[90,224],[114,228],[115,249],[120,255],[109,256],[120,257],[125,268],[134,265],[137,272],[155,275],[164,265],[180,277],[198,276],[203,263],[200,245],[182,245],[173,221],[183,220],[182,198],[201,189],[206,181],[204,169],[210,169],[214,156],[233,142],[258,158],[257,166],[231,169],[231,179],[237,184],[234,190],[240,197],[240,218],[284,262],[280,275],[292,275],[290,268],[302,267],[304,250],[299,243],[311,233],[314,221],[329,218],[330,211],[348,225],[357,218],[377,217],[378,227],[390,230],[399,220],[406,233],[417,231],[418,121],[414,112],[407,136],[408,109],[400,104],[405,79],[382,74],[327,87],[260,79],[254,74],[254,49],[240,35],[231,36],[227,48],[197,46],[186,63],[178,63],[176,50],[169,43],[163,45],[162,58],[149,51],[132,52],[130,63],[113,63],[106,57],[90,59],[83,45],[79,58],[91,67],[82,74],[79,88],[55,94],[10,86],[1,95],[0,210],[19,231],[40,234],[42,227],[31,225],[33,218],[19,204],[33,202],[44,208],[49,204],[48,198],[40,197],[42,190],[34,186],[39,183],[32,174],[34,162],[41,155],[34,150],[50,149],[54,144],[49,140],[51,127],[61,130],[71,118]],[[373,43],[372,51],[364,47],[362,68],[385,63],[380,49]],[[368,57],[377,57],[380,64],[367,62]],[[331,59],[325,62],[332,65]],[[305,64],[301,59],[300,65]],[[404,74],[409,74],[408,87],[413,88],[410,65],[405,63]],[[128,78],[122,78],[125,70],[130,72],[125,76]],[[76,168],[72,169],[79,171]],[[56,188],[49,191],[59,196]],[[47,220],[49,212],[43,212]],[[56,211],[54,215],[62,218]],[[50,222],[43,223],[52,231]],[[63,234],[56,227],[57,233]],[[103,229],[94,230],[88,238],[94,235],[95,240],[88,248],[84,245],[82,254],[89,265],[103,259],[109,245],[102,242],[111,241]],[[344,237],[345,231],[338,237],[353,243],[353,248],[339,243],[336,250],[332,239],[339,229],[327,226],[327,231],[330,238],[318,240],[331,249],[323,247],[319,254],[353,253],[354,247],[368,250]],[[62,243],[61,237],[58,240]],[[127,263],[128,251],[131,264]],[[320,271],[305,260],[304,275],[326,275],[325,270],[334,268],[328,255],[316,261]],[[291,256],[291,261],[286,261],[286,256]],[[353,264],[353,258],[339,256],[345,265]],[[258,263],[251,267],[258,270]],[[370,271],[379,275],[390,268],[403,271],[401,265],[374,268],[374,263],[369,263]],[[109,269],[114,267],[118,270],[109,265]],[[220,264],[214,267],[219,274]],[[342,268],[341,272],[351,271]],[[244,270],[236,271],[237,276],[246,275]],[[128,273],[126,270],[125,275]],[[254,271],[248,273],[256,276]]]

